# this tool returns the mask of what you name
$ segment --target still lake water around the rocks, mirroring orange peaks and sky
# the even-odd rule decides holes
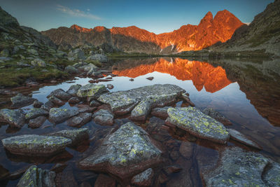
[[[274,61],[238,61],[219,60],[201,62],[185,60],[181,58],[151,58],[151,59],[120,59],[112,61],[113,77],[110,82],[100,82],[107,85],[112,84],[111,92],[118,90],[130,90],[144,85],[153,84],[175,84],[185,89],[190,94],[190,99],[199,109],[213,108],[228,118],[232,125],[228,126],[246,134],[262,146],[266,156],[280,162],[280,71],[279,63]],[[153,76],[149,81],[148,77]],[[134,78],[134,81],[130,81]],[[33,91],[32,97],[41,102],[46,102],[46,96],[57,88],[68,90],[73,84],[85,85],[91,78],[78,78],[74,81],[48,85]],[[3,100],[3,98],[2,98]],[[184,106],[183,102],[176,104]],[[1,107],[1,106],[0,106]],[[70,107],[66,103],[62,107]],[[2,107],[3,108],[3,107]],[[29,109],[26,106],[24,109]],[[121,125],[127,119],[120,117],[116,124]],[[191,183],[190,186],[202,186],[200,172],[211,167],[218,160],[218,150],[223,146],[194,139],[184,132],[166,130],[162,127],[164,120],[150,116],[145,124],[137,123],[144,127],[151,137],[159,142],[166,151],[163,157],[166,161],[163,165],[180,165],[183,170],[178,174],[167,177],[167,182],[162,186],[170,186],[177,183]],[[66,148],[66,152],[55,158],[22,158],[6,153],[3,145],[0,145],[0,165],[10,172],[15,172],[31,163],[39,167],[50,169],[57,162],[66,162],[68,166],[64,172],[59,174],[62,177],[62,186],[78,186],[83,181],[94,184],[97,174],[80,170],[76,167],[76,160],[85,158],[92,153],[92,150],[100,143],[99,139],[104,137],[110,127],[102,127],[94,122],[87,123],[83,127],[90,129],[91,141],[84,142],[77,148]],[[31,129],[25,125],[20,130],[11,129],[6,124],[0,127],[1,139],[19,134],[45,134],[57,130],[71,129],[64,123],[52,125],[46,121],[38,129]],[[184,158],[179,149],[181,142],[191,141],[193,153],[190,158]],[[230,141],[229,145],[237,145],[237,142]],[[251,148],[242,146],[251,151]],[[211,161],[209,161],[211,160]],[[160,168],[155,168],[155,183],[165,181]],[[15,186],[18,179],[6,181],[6,186]],[[4,185],[4,183],[3,183]]]

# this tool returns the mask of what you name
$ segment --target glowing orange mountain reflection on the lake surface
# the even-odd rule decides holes
[[[113,74],[136,78],[137,76],[158,71],[175,76],[181,81],[192,80],[193,85],[195,85],[198,91],[205,88],[207,92],[212,93],[232,83],[228,80],[225,70],[222,67],[213,67],[206,62],[183,60],[181,58],[176,58],[171,61],[169,62],[160,58],[153,64],[148,62],[149,64],[139,64],[127,69],[122,69],[122,65],[119,64],[118,70],[113,71]]]

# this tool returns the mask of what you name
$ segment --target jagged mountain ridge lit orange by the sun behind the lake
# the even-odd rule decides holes
[[[202,50],[219,41],[225,42],[236,29],[244,25],[229,11],[219,11],[215,17],[207,13],[199,25],[183,25],[174,32],[154,34],[138,27],[94,27],[78,25],[59,27],[41,32],[61,49],[76,48],[85,44],[106,46],[126,53],[178,53],[185,50]]]

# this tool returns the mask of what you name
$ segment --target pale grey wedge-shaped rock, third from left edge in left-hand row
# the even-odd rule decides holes
[[[78,109],[50,109],[49,118],[53,123],[62,123],[69,118],[78,115]]]

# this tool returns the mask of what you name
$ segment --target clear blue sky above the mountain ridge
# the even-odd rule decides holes
[[[182,25],[197,25],[211,11],[227,9],[242,22],[251,22],[273,0],[0,0],[0,6],[20,25],[38,31],[57,27],[127,27],[135,25],[156,34]]]

